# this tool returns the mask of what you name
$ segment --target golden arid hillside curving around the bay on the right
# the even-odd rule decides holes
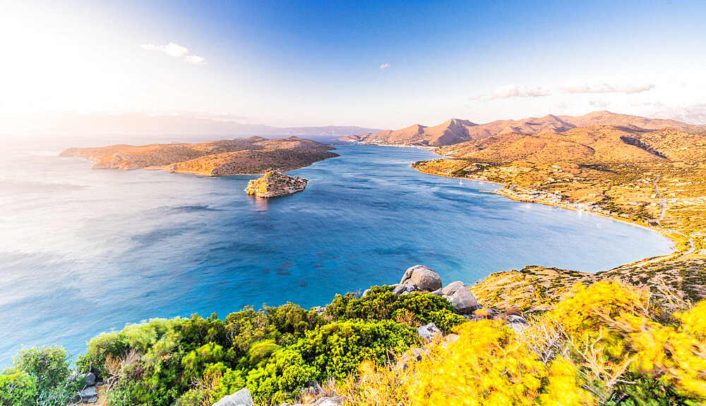
[[[591,116],[591,117],[589,117]],[[551,308],[575,282],[618,278],[676,293],[678,300],[706,295],[706,134],[702,127],[671,121],[602,114],[561,133],[498,133],[437,148],[445,159],[420,161],[418,171],[454,178],[490,180],[511,199],[578,209],[650,226],[674,240],[665,257],[619,266],[604,273],[527,266],[491,275],[474,287],[501,308]],[[642,125],[640,128],[637,124]],[[657,128],[671,125],[667,128]],[[652,127],[652,128],[647,128]],[[510,295],[512,293],[512,295]],[[527,305],[527,297],[546,298]],[[544,300],[544,299],[542,299]]]

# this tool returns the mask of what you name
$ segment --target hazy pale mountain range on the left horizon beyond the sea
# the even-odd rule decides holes
[[[278,128],[261,124],[216,121],[193,116],[150,116],[145,113],[37,113],[0,121],[0,133],[164,134],[164,135],[302,135],[340,137],[377,132],[376,128],[327,125]]]

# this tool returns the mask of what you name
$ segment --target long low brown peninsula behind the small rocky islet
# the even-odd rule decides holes
[[[292,171],[338,156],[334,147],[299,137],[233,138],[198,144],[126,144],[69,148],[60,156],[80,156],[93,169],[147,169],[201,176],[250,175],[273,169]]]

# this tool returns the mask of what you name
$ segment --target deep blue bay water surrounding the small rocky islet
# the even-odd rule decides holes
[[[76,354],[153,317],[245,305],[324,305],[396,283],[414,264],[445,282],[537,264],[601,271],[670,251],[648,230],[479,192],[491,183],[409,167],[419,149],[343,145],[290,174],[304,192],[246,196],[253,176],[90,170],[59,158],[108,141],[0,140],[0,366],[22,345]]]

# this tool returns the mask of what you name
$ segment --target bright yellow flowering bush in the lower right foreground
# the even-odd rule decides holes
[[[703,405],[706,302],[671,313],[618,282],[573,287],[517,334],[500,321],[457,326],[407,369],[340,391],[352,405]]]

